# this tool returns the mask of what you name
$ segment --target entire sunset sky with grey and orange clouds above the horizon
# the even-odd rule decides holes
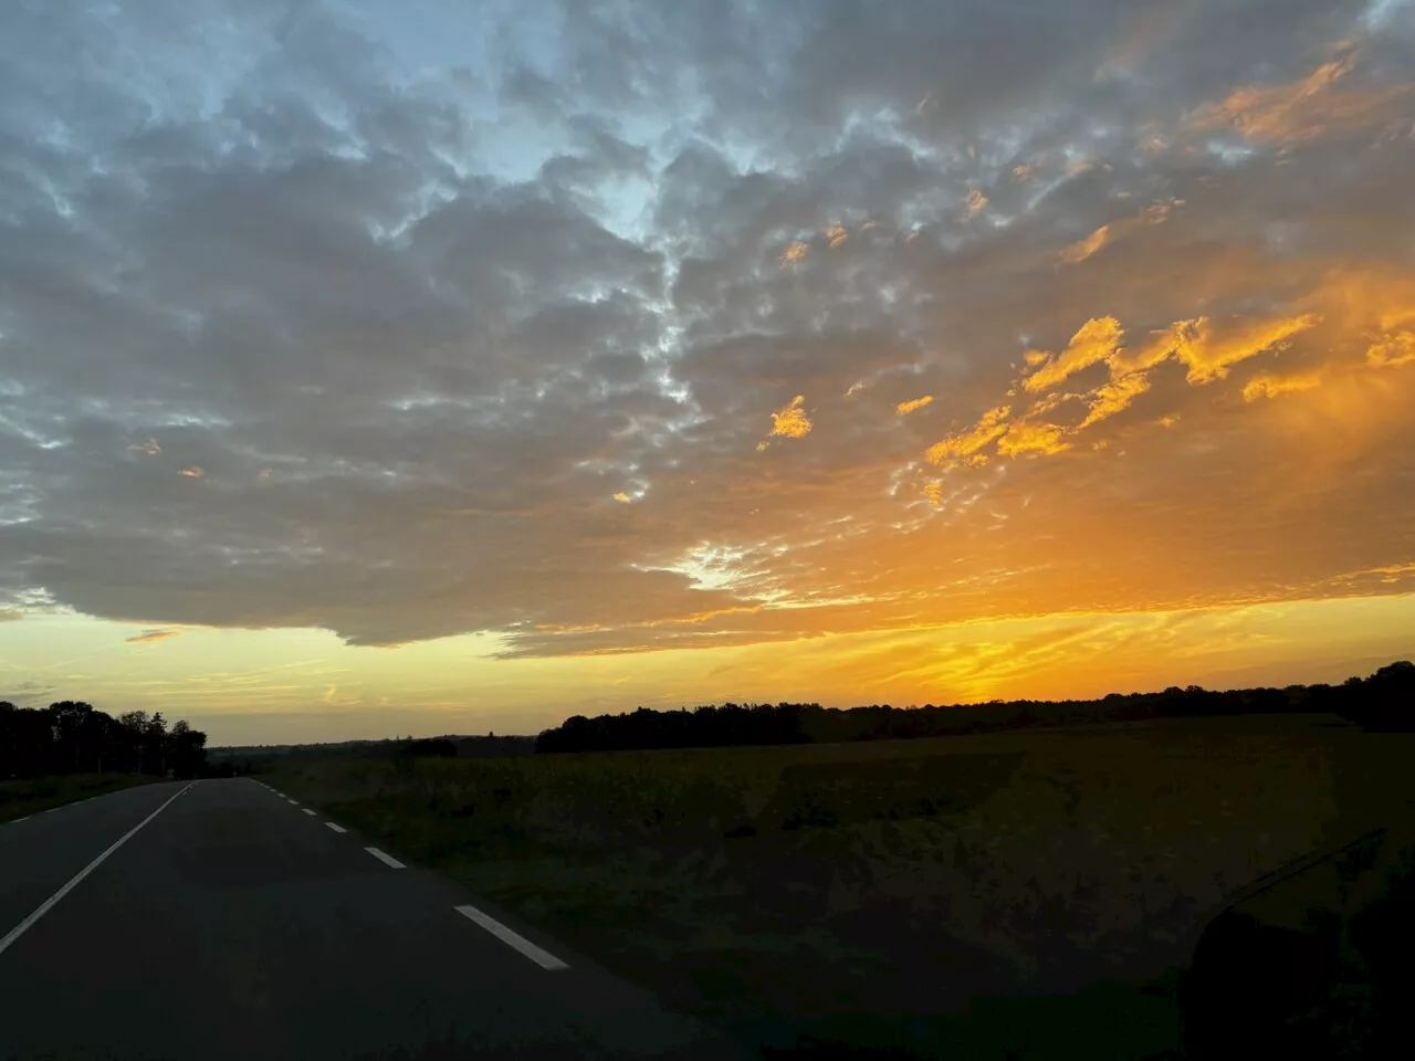
[[[0,6],[0,699],[1415,655],[1409,0]]]

